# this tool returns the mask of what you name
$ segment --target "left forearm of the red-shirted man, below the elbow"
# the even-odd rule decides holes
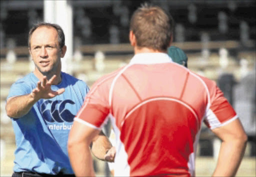
[[[69,144],[68,155],[76,177],[95,176],[89,146],[85,142]]]

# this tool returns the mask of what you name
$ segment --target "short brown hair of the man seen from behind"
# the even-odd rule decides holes
[[[166,51],[170,43],[174,21],[168,12],[159,6],[144,3],[134,11],[130,30],[136,37],[137,47]]]

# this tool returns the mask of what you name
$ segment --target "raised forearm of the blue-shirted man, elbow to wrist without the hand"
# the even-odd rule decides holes
[[[31,94],[9,98],[5,109],[8,117],[20,118],[28,113],[32,106],[36,103]]]

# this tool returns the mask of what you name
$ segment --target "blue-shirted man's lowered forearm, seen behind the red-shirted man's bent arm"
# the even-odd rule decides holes
[[[100,132],[97,139],[92,142],[91,152],[97,159],[104,161],[104,156],[111,147],[108,138]]]

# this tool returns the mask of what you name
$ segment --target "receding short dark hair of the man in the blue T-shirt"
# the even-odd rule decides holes
[[[35,24],[28,32],[28,40],[27,40],[28,48],[30,48],[30,40],[31,40],[32,33],[34,32],[35,29],[37,29],[40,26],[48,26],[48,27],[55,28],[58,33],[58,44],[60,49],[65,45],[65,35],[62,28],[59,25],[54,23],[39,22]]]

